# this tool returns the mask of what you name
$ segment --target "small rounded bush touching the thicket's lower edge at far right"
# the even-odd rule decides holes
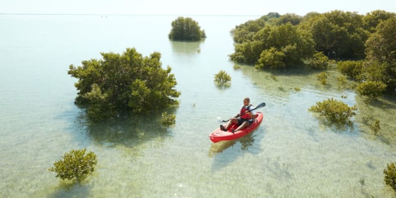
[[[381,81],[365,81],[356,87],[356,91],[359,95],[375,99],[382,96],[386,88],[387,85]]]

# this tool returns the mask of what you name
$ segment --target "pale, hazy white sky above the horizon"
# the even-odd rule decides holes
[[[0,13],[265,15],[331,10],[396,12],[395,0],[0,0]]]

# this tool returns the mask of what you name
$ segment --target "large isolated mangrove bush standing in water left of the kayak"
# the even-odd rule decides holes
[[[171,68],[161,67],[161,54],[143,57],[134,48],[122,54],[101,53],[102,60],[84,60],[70,65],[75,83],[76,103],[89,104],[88,116],[99,121],[121,111],[143,113],[177,104],[176,80]],[[155,104],[155,105],[153,105]]]

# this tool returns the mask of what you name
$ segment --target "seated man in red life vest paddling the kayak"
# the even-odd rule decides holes
[[[220,125],[220,129],[223,131],[228,131],[233,123],[238,124],[237,129],[231,129],[231,132],[234,133],[235,131],[242,130],[249,126],[252,122],[254,122],[254,119],[257,118],[256,112],[252,109],[253,106],[250,104],[250,99],[245,98],[244,105],[242,106],[240,113],[237,116],[230,118],[226,126]]]

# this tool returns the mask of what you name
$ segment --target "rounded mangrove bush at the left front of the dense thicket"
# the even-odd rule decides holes
[[[234,40],[237,35],[234,35]],[[235,45],[231,60],[256,64],[256,68],[291,67],[312,56],[314,42],[307,32],[291,23],[264,26],[248,41]]]

